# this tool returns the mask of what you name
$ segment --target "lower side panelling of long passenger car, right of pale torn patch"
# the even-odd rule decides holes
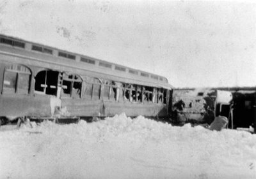
[[[145,117],[164,117],[167,113],[166,105],[143,103],[118,103],[116,101],[92,101],[90,99],[62,99],[62,108],[77,116],[108,117],[120,113],[127,116],[143,115]]]

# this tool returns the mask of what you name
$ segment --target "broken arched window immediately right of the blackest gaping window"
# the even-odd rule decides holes
[[[81,97],[82,79],[78,75],[67,75],[63,73],[61,96]]]

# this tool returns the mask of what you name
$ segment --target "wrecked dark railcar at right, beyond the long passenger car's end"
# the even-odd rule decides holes
[[[256,88],[175,89],[173,120],[179,123],[211,124],[218,115],[228,118],[228,127],[254,132],[256,129]]]

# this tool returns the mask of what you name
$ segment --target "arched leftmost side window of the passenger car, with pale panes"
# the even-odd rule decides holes
[[[13,64],[4,69],[4,93],[28,94],[31,71],[26,66]]]

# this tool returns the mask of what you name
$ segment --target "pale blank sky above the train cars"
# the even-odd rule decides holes
[[[1,1],[0,32],[166,76],[256,86],[253,1]]]

